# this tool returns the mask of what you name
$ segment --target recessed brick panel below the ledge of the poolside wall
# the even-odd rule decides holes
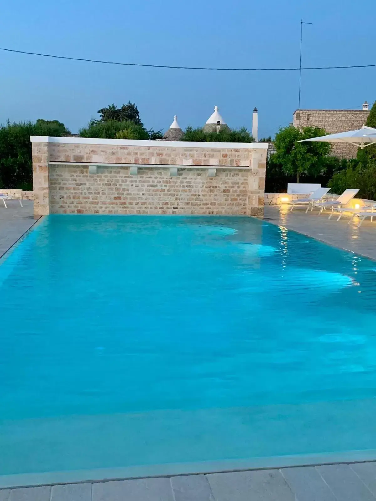
[[[246,215],[248,171],[146,167],[135,175],[129,167],[50,167],[52,213],[79,214],[229,214]]]

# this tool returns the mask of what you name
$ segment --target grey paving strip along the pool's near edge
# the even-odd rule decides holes
[[[0,489],[0,501],[376,501],[376,462]]]

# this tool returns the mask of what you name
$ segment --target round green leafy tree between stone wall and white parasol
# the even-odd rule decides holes
[[[295,175],[297,183],[301,174],[317,176],[323,173],[325,160],[330,152],[330,144],[325,142],[298,143],[298,141],[325,134],[325,130],[319,127],[303,127],[301,130],[290,125],[280,129],[274,140],[275,163],[282,165],[282,170],[286,175]]]

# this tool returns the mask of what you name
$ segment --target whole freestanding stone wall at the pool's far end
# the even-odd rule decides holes
[[[263,216],[267,143],[32,142],[36,215]]]

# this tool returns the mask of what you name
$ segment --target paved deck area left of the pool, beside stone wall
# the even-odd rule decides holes
[[[0,257],[37,221],[32,200],[7,200],[8,208],[0,204]]]

